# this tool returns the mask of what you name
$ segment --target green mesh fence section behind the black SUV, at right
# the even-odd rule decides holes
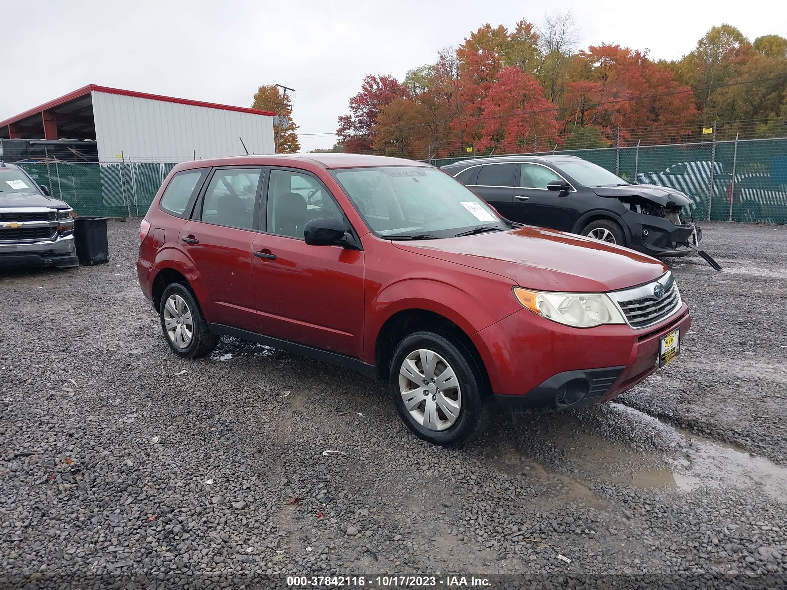
[[[538,155],[552,153],[589,160],[631,183],[682,190],[694,201],[695,219],[787,223],[787,138],[557,149]],[[430,161],[445,166],[460,160],[467,158]]]

